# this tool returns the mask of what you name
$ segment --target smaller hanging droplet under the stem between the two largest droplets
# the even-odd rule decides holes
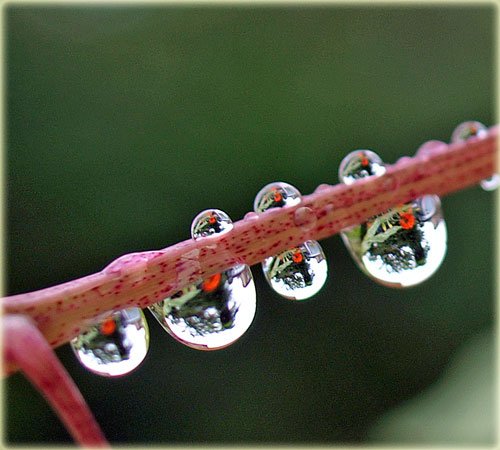
[[[323,249],[316,241],[271,256],[262,263],[269,285],[289,300],[305,300],[317,294],[328,275]]]

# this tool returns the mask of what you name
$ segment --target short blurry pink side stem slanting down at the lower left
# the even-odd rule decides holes
[[[86,447],[109,447],[77,386],[32,320],[2,318],[4,360],[21,369],[43,393],[74,440]]]

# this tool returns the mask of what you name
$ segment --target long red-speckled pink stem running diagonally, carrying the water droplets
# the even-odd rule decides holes
[[[498,127],[493,127],[485,138],[401,158],[379,178],[350,186],[320,185],[299,205],[249,214],[222,236],[124,255],[94,275],[5,297],[4,312],[29,316],[49,344],[59,346],[107,311],[144,308],[236,263],[253,265],[305,240],[332,236],[396,204],[478,184],[498,171],[497,134]]]

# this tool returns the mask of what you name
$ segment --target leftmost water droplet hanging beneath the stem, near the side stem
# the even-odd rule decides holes
[[[116,311],[70,344],[91,372],[105,377],[125,375],[138,367],[148,352],[148,324],[140,308]]]

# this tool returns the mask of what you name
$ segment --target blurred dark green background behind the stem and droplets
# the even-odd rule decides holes
[[[36,6],[3,10],[7,289],[40,289],[239,220],[282,180],[336,183],[345,154],[392,163],[464,120],[495,123],[493,5]],[[494,194],[443,199],[448,255],[408,290],[374,284],[338,236],[315,298],[270,291],[203,353],[148,313],[151,348],[104,379],[57,350],[112,443],[491,444]],[[70,443],[20,374],[5,440]]]

